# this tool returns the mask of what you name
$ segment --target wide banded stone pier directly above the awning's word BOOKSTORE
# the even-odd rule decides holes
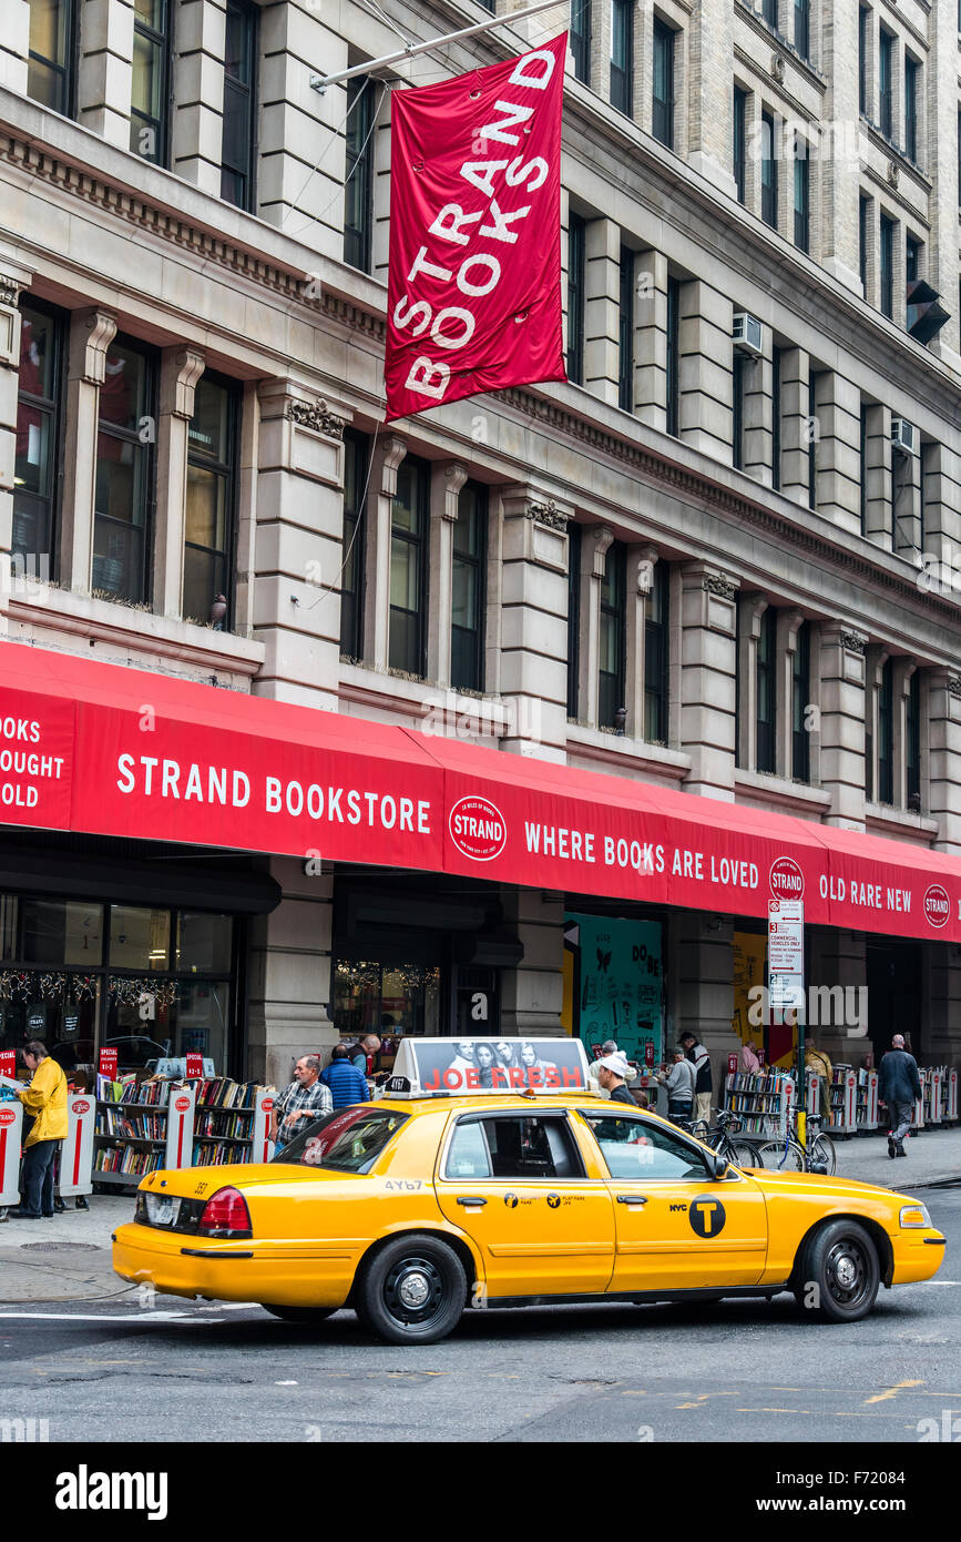
[[[293,381],[260,386],[256,691],[303,706],[337,706],[347,421],[348,407]]]

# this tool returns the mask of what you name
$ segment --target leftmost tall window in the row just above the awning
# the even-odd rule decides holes
[[[14,460],[11,550],[25,572],[52,577],[60,492],[66,318],[34,302],[20,307],[20,395]]]

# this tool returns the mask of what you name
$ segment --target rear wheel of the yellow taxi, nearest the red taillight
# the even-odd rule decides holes
[[[464,1264],[447,1243],[420,1232],[387,1243],[365,1264],[354,1306],[360,1321],[394,1345],[433,1345],[467,1305]]]

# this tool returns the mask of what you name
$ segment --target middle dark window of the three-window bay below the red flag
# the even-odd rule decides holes
[[[419,678],[427,672],[428,498],[430,463],[407,455],[391,518],[388,663]]]

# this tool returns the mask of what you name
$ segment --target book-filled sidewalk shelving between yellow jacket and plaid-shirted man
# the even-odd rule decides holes
[[[228,1076],[97,1078],[94,1183],[129,1187],[160,1167],[270,1161],[273,1093]]]

